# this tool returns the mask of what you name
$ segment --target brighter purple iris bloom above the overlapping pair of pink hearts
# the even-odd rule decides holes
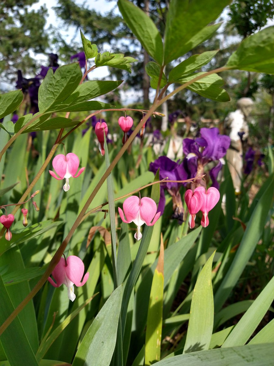
[[[183,152],[186,156],[183,160],[183,166],[188,173],[187,178],[193,178],[204,173],[205,165],[211,161],[217,161],[217,164],[210,169],[209,175],[212,179],[212,186],[218,189],[217,176],[222,168],[220,159],[227,153],[230,138],[226,135],[220,135],[216,127],[201,128],[200,135],[195,140],[189,138],[183,140]],[[204,185],[202,181],[199,183]]]

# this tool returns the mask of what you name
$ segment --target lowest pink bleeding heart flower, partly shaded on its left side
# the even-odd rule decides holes
[[[89,276],[89,273],[87,272],[81,282],[84,270],[84,263],[79,257],[76,257],[76,255],[70,255],[66,259],[62,257],[52,271],[52,276],[56,280],[56,283],[50,277],[48,277],[48,281],[54,287],[60,287],[62,284],[65,284],[68,288],[68,298],[71,301],[74,301],[76,296],[74,294],[73,285],[77,287],[83,286],[87,282]]]

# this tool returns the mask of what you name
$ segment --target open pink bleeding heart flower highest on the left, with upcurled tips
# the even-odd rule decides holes
[[[65,192],[69,190],[69,178],[77,178],[85,170],[85,168],[81,168],[76,174],[79,168],[79,158],[73,153],[68,153],[66,156],[63,154],[56,155],[52,161],[52,165],[60,178],[51,170],[49,170],[49,173],[53,178],[58,180],[65,178],[66,183],[63,187]]]

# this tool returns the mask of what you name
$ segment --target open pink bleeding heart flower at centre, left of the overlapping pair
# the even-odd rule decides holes
[[[134,234],[134,238],[137,240],[142,238],[140,232],[141,225],[154,225],[161,214],[161,212],[156,213],[157,205],[152,198],[143,197],[140,199],[137,196],[126,198],[123,203],[123,211],[119,207],[118,211],[124,223],[129,224],[133,221],[137,225],[137,232]],[[123,212],[125,213],[126,219]]]

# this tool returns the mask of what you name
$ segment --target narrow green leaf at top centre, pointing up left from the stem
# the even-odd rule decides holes
[[[126,24],[146,52],[161,65],[163,63],[163,42],[151,18],[128,0],[118,0],[118,7]]]

